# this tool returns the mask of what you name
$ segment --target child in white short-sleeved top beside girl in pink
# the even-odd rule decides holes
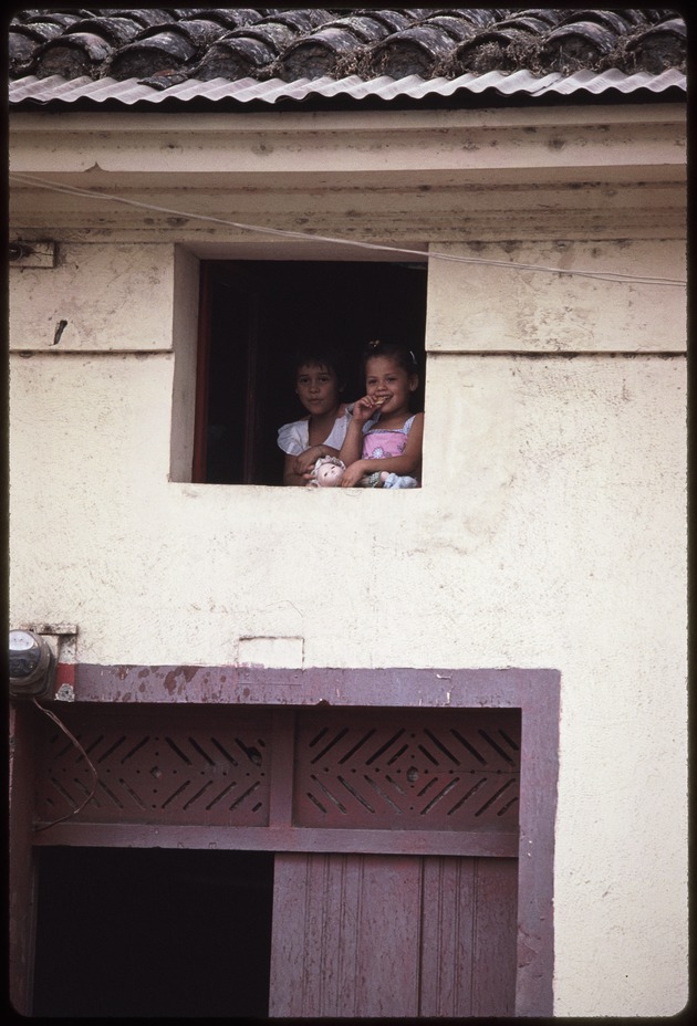
[[[279,428],[278,443],[285,453],[283,484],[305,485],[320,457],[337,457],[351,420],[342,402],[341,359],[329,347],[295,355],[295,392],[308,416]]]

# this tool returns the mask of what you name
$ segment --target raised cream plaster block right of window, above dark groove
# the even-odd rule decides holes
[[[685,281],[682,239],[434,249],[448,258],[435,263],[447,302],[428,311],[438,352],[685,349],[685,286],[655,281]]]

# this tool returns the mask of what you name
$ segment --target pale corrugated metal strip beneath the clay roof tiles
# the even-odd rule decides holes
[[[408,75],[398,80],[382,75],[368,82],[364,82],[357,75],[348,75],[340,80],[329,76],[298,78],[294,82],[283,82],[281,78],[257,82],[251,77],[240,78],[237,82],[228,82],[226,78],[200,82],[194,78],[163,91],[145,85],[137,78],[126,78],[124,82],[117,82],[116,78],[101,78],[94,82],[86,75],[72,81],[66,81],[61,75],[52,75],[49,78],[37,78],[30,75],[10,84],[10,102],[21,103],[31,100],[34,103],[59,101],[63,104],[72,104],[86,98],[93,103],[116,100],[126,106],[136,103],[157,106],[168,100],[181,102],[232,100],[240,104],[251,101],[273,104],[280,100],[302,101],[312,95],[325,97],[344,95],[353,100],[373,96],[391,101],[398,96],[410,100],[423,100],[426,96],[451,96],[459,91],[479,94],[495,91],[502,96],[517,93],[526,93],[529,96],[543,96],[549,93],[569,96],[580,91],[596,95],[613,88],[625,94],[637,90],[662,93],[674,87],[678,90],[686,87],[686,76],[674,69],[659,75],[648,72],[627,75],[620,71],[607,71],[602,74],[580,71],[572,75],[561,75],[556,72],[541,77],[532,75],[529,71],[511,74],[492,71],[483,75],[469,73],[457,78],[437,77],[427,81],[418,75]]]

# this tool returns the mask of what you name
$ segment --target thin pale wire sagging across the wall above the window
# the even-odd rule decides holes
[[[10,175],[10,181],[15,181],[19,184],[27,184],[38,186],[41,189],[48,189],[52,192],[63,192],[67,196],[82,196],[89,197],[90,199],[100,199],[102,201],[108,200],[114,203],[123,203],[128,207],[137,207],[142,210],[149,210],[154,213],[166,213],[177,218],[186,218],[188,220],[195,221],[209,221],[216,224],[225,224],[228,228],[237,228],[241,231],[257,232],[268,235],[275,235],[288,239],[302,239],[303,241],[309,242],[329,242],[334,245],[352,245],[358,249],[365,250],[378,250],[382,252],[389,253],[399,253],[420,256],[423,260],[449,260],[455,263],[467,263],[476,264],[479,266],[496,266],[504,268],[507,270],[518,270],[518,271],[537,271],[547,274],[565,274],[575,278],[592,278],[601,281],[607,282],[620,282],[628,284],[643,284],[643,285],[666,285],[670,287],[686,287],[687,282],[683,279],[674,278],[656,278],[653,275],[641,275],[641,274],[623,274],[617,271],[583,271],[583,270],[572,270],[569,268],[551,268],[540,264],[530,264],[530,263],[520,263],[517,261],[506,261],[506,260],[487,260],[481,256],[461,256],[455,253],[438,253],[438,252],[424,252],[422,250],[405,249],[397,245],[384,245],[377,242],[361,242],[355,239],[339,239],[333,235],[320,235],[312,234],[305,231],[292,231],[291,229],[284,228],[267,228],[260,224],[246,224],[240,221],[231,221],[227,218],[217,218],[212,214],[207,213],[193,213],[186,210],[176,210],[170,207],[159,207],[155,203],[144,203],[139,200],[128,199],[123,196],[115,196],[110,192],[97,192],[94,189],[79,189],[74,186],[64,186],[60,185],[56,181],[49,181],[42,178],[35,178],[30,175]]]

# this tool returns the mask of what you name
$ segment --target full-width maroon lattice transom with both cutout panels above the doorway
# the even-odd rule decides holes
[[[67,816],[75,825],[287,831],[518,829],[519,710],[83,704],[59,712],[89,763],[58,725],[43,724],[40,824]]]

